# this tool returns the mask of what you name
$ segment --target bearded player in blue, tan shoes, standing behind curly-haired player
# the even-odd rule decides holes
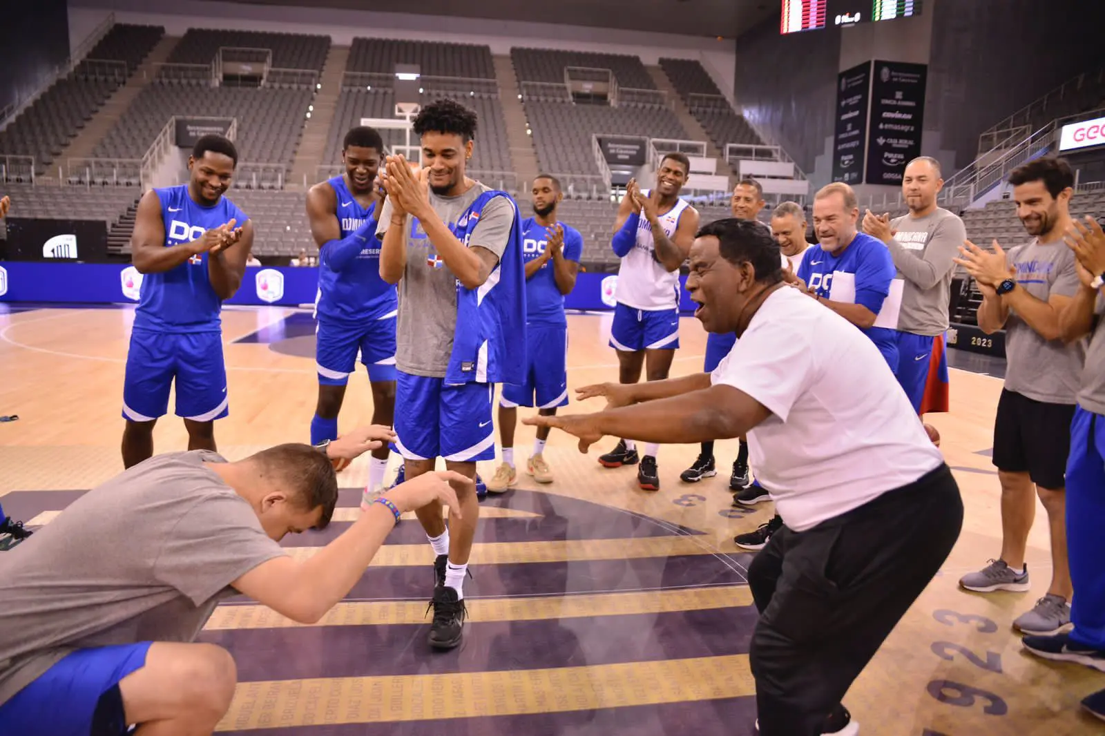
[[[503,493],[518,482],[514,466],[514,427],[518,407],[538,408],[551,417],[557,407],[568,406],[568,318],[564,297],[576,286],[583,236],[557,219],[564,199],[560,181],[547,174],[534,179],[534,215],[522,221],[522,252],[526,262],[526,380],[520,386],[504,383],[498,403],[498,434],[503,462],[487,483],[488,493]],[[545,462],[549,428],[537,428],[534,454],[526,472],[538,483],[551,483],[552,472]]]

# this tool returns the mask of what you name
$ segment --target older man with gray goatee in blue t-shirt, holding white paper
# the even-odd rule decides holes
[[[893,288],[894,260],[881,240],[859,231],[859,217],[851,187],[839,181],[822,187],[813,198],[820,248],[806,251],[796,275],[810,296],[870,337],[896,371],[902,284]]]

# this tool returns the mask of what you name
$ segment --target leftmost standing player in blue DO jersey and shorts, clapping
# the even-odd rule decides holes
[[[215,450],[214,420],[229,413],[220,312],[253,248],[253,223],[223,197],[236,166],[234,144],[203,136],[188,158],[188,183],[138,202],[130,249],[144,277],[123,385],[126,467],[154,454],[154,424],[173,382],[188,449]]]

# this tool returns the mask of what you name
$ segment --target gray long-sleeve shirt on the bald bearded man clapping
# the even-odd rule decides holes
[[[939,335],[948,328],[948,301],[956,264],[951,259],[967,240],[959,215],[937,208],[923,218],[906,214],[891,221],[897,234],[887,244],[897,277],[905,280],[899,330]]]

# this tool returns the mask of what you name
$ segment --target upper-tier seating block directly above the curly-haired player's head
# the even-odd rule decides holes
[[[392,74],[396,64],[418,64],[423,76],[495,78],[490,46],[407,39],[354,39],[346,71]]]

